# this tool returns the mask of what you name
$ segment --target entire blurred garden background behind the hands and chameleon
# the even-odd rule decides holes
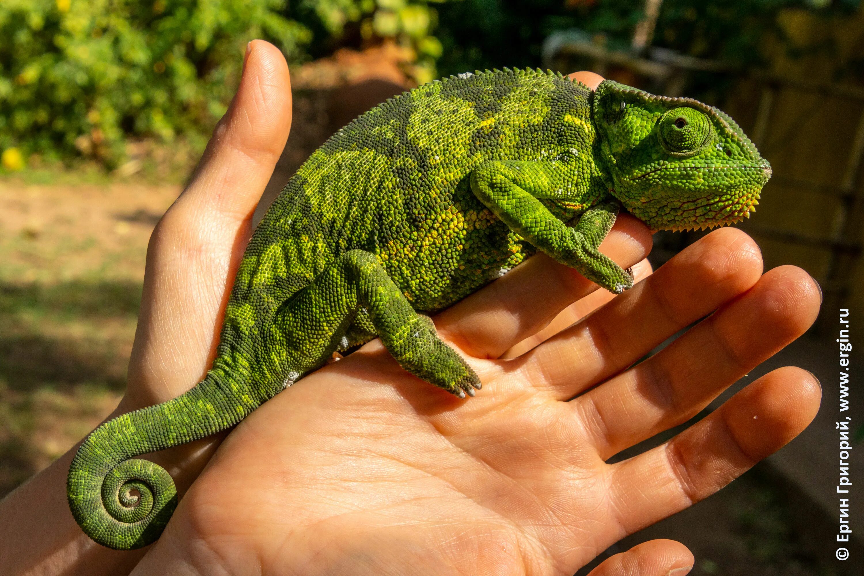
[[[259,214],[340,126],[444,75],[593,70],[729,112],[774,168],[740,227],[766,267],[796,264],[823,287],[817,325],[772,364],[814,371],[823,410],[768,462],[619,548],[681,540],[693,574],[861,573],[832,560],[825,449],[836,311],[852,309],[859,336],[864,318],[859,0],[0,1],[0,496],[118,402],[149,233],[226,111],[254,38],[283,50],[295,89]],[[658,234],[652,262],[703,233]],[[853,547],[861,559],[861,540]]]

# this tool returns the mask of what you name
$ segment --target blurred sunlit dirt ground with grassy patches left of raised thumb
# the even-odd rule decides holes
[[[0,496],[111,412],[177,186],[0,181]]]

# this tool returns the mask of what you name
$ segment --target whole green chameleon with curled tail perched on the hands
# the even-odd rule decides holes
[[[732,118],[689,98],[560,74],[463,73],[339,130],[246,249],[205,379],[98,427],[73,459],[75,520],[111,548],[155,541],[175,484],[144,453],[232,427],[333,356],[378,337],[411,374],[464,398],[480,380],[425,314],[537,250],[619,294],[598,250],[621,206],[652,230],[739,221],[771,176]]]

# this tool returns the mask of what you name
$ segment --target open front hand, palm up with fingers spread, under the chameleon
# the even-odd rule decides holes
[[[626,264],[638,244],[623,237],[639,237],[638,223],[610,239]],[[715,231],[652,275],[638,266],[647,277],[635,288],[524,351],[608,300],[533,258],[435,318],[480,375],[476,398],[365,345],[243,421],[136,573],[572,574],[717,491],[815,414],[814,378],[775,370],[663,446],[605,462],[695,415],[814,320],[810,277],[761,266],[749,237]],[[515,358],[488,359],[502,356]]]

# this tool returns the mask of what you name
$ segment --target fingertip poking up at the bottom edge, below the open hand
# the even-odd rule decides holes
[[[693,554],[681,542],[651,540],[615,554],[588,576],[684,576],[693,568]]]

